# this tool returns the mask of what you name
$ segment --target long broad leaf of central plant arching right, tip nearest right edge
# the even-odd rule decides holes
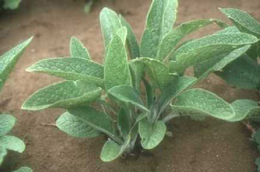
[[[213,34],[187,43],[172,56],[171,72],[182,73],[187,67],[202,63],[209,58],[227,54],[233,50],[257,43],[259,39],[251,34]]]

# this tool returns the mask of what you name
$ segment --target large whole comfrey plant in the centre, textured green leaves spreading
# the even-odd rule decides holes
[[[177,116],[240,120],[225,100],[190,87],[222,69],[259,39],[239,32],[214,34],[179,45],[184,36],[205,25],[228,25],[209,19],[173,28],[176,13],[177,0],[154,0],[139,45],[129,23],[104,8],[100,12],[104,64],[92,61],[87,49],[73,37],[71,57],[45,59],[27,69],[65,81],[40,89],[22,109],[67,109],[56,121],[57,127],[78,138],[105,134],[108,139],[100,155],[105,162],[131,153],[138,144],[143,149],[158,146],[166,134],[166,122]],[[187,67],[211,59],[217,61],[202,68],[199,78],[184,76]]]

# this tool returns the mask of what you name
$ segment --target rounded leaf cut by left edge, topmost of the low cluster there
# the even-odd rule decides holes
[[[14,127],[15,118],[10,115],[0,115],[0,137],[11,131]]]

